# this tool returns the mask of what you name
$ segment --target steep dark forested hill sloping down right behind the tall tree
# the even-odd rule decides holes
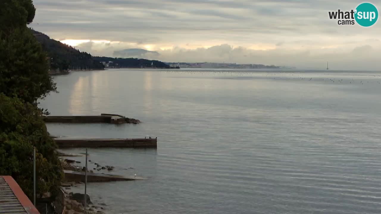
[[[101,62],[96,61],[86,52],[78,51],[69,45],[49,38],[47,35],[32,30],[38,42],[42,44],[43,50],[51,58],[51,69],[104,69]]]

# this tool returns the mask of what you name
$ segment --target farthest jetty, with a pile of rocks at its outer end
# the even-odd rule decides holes
[[[124,117],[122,115],[105,113],[94,116],[42,116],[42,119],[45,123],[140,123],[140,120]]]

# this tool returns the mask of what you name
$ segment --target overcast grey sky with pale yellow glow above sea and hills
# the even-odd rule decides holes
[[[34,0],[30,27],[93,56],[381,69],[381,21],[338,25],[356,0]],[[381,0],[373,0],[378,10]],[[380,18],[381,19],[381,18]],[[129,51],[128,53],[131,53]],[[126,57],[123,55],[123,57]]]

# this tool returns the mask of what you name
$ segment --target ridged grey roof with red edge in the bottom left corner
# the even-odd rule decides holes
[[[0,214],[40,214],[11,176],[0,176]]]

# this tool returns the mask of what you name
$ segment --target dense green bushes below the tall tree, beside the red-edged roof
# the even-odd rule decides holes
[[[62,179],[62,168],[40,110],[4,94],[0,94],[0,103],[0,174],[11,175],[32,198],[36,147],[37,195],[54,194]]]

